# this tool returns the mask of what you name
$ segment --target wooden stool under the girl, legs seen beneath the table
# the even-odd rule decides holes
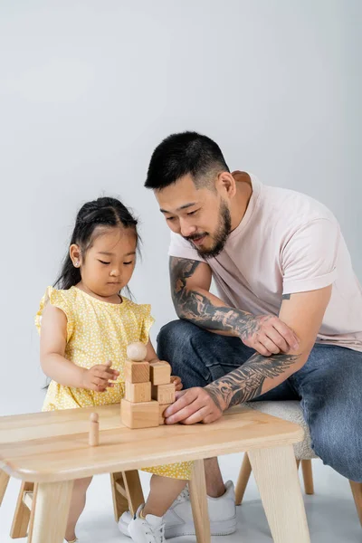
[[[6,478],[7,481],[5,481]],[[5,472],[0,472],[0,498],[4,496],[8,481],[8,475]],[[110,483],[116,522],[119,521],[119,517],[124,511],[130,510],[134,515],[139,505],[145,501],[138,471],[111,473]],[[10,530],[11,538],[26,538],[28,536],[28,543],[31,543],[37,486],[33,482],[22,482]]]

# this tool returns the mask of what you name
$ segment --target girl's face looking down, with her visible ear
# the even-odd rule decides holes
[[[73,264],[81,268],[78,286],[106,301],[118,301],[119,291],[129,283],[135,269],[136,248],[133,228],[97,227],[84,256],[78,245],[70,248]]]

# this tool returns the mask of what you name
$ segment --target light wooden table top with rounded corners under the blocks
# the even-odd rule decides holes
[[[0,468],[29,482],[68,481],[99,473],[298,443],[298,424],[233,407],[213,424],[131,430],[119,404],[0,417]],[[100,445],[88,444],[90,413],[100,416]]]

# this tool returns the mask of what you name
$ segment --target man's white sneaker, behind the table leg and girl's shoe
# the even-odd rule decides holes
[[[227,536],[236,529],[235,491],[233,481],[225,483],[225,493],[220,498],[207,496],[207,506],[210,518],[212,536]],[[132,516],[129,511],[119,518],[119,529],[122,534],[129,536],[129,523]],[[192,516],[190,495],[182,491],[164,516],[166,538],[178,536],[195,536],[195,526]]]

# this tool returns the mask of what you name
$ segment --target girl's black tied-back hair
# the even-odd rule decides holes
[[[139,236],[137,232],[137,220],[130,214],[129,210],[116,198],[101,197],[82,205],[77,214],[73,233],[71,234],[71,243],[76,243],[81,248],[84,256],[90,249],[93,241],[93,233],[97,226],[122,226],[123,228],[133,228],[135,230],[137,243]],[[71,256],[68,252],[62,263],[62,271],[54,283],[58,287],[67,291],[81,281],[81,271],[75,268],[71,262]]]

